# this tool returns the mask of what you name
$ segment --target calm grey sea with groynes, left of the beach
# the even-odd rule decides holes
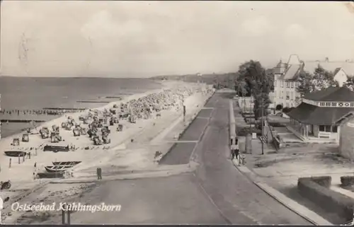
[[[127,95],[161,88],[150,78],[29,78],[0,76],[0,107],[19,114],[0,113],[1,120],[51,120],[58,115],[28,115],[43,108],[94,108],[120,100]],[[26,110],[26,111],[21,111]],[[30,118],[30,119],[28,119]],[[1,138],[17,134],[30,123],[3,122]]]

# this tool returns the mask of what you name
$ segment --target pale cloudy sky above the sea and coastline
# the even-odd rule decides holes
[[[1,2],[1,75],[145,77],[354,59],[354,4]]]

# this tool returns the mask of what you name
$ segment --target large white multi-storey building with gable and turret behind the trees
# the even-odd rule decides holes
[[[326,61],[300,61],[296,54],[290,55],[287,63],[280,61],[273,69],[274,92],[270,93],[272,107],[296,107],[301,103],[300,94],[297,92],[299,82],[297,76],[301,71],[314,74],[314,70],[321,66],[327,71],[333,72],[333,79],[340,85],[348,80],[348,76],[354,76],[354,62],[330,62]]]

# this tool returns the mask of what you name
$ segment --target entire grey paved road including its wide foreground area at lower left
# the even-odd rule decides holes
[[[89,215],[76,212],[72,214],[72,223],[311,225],[269,197],[228,159],[229,100],[226,96],[216,93],[205,105],[214,109],[195,147],[195,161],[200,165],[194,173],[102,182],[81,199],[90,204],[121,204],[122,210]],[[198,127],[188,130],[200,132]],[[195,132],[187,134],[195,137]],[[190,150],[189,146],[186,149]],[[180,154],[185,155],[185,152]],[[171,153],[171,157],[174,158],[170,158],[170,165],[181,162],[178,153]]]

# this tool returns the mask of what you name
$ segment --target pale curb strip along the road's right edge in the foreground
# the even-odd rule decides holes
[[[265,184],[264,182],[259,182],[256,180],[256,174],[253,173],[249,168],[246,166],[238,166],[236,162],[233,160],[232,163],[234,166],[239,170],[243,175],[249,178],[253,182],[253,184],[257,185],[263,192],[267,193],[270,197],[277,200],[280,204],[290,209],[295,214],[301,216],[305,220],[309,221],[310,223],[314,224],[314,226],[333,226],[333,223],[330,223],[326,219],[322,218],[314,211],[307,209],[307,207],[302,206],[301,204],[297,204],[294,200],[290,199],[289,197],[285,196],[278,190],[275,190],[273,187]],[[303,211],[296,209],[294,206],[300,206]],[[312,216],[312,217],[310,217]]]

